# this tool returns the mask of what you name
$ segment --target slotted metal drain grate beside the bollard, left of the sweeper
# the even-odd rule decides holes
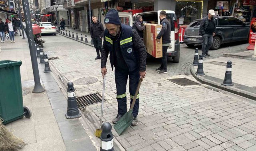
[[[99,93],[93,93],[93,94],[84,95],[76,98],[76,103],[78,108],[83,108],[85,106],[93,105],[101,102],[102,102],[102,97],[101,95],[99,95]]]

